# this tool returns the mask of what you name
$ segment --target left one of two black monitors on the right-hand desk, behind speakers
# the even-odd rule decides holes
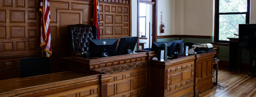
[[[167,44],[167,56],[171,56],[171,44],[173,42],[153,42],[151,51],[155,51],[156,56],[158,56],[159,50],[164,50],[164,43]]]

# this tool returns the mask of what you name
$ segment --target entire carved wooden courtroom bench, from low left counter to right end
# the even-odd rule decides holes
[[[213,88],[214,52],[152,60],[152,51],[83,59],[71,71],[0,81],[0,97],[193,97]]]

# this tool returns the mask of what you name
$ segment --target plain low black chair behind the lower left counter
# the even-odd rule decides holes
[[[20,77],[39,76],[51,73],[50,58],[35,57],[20,60]]]

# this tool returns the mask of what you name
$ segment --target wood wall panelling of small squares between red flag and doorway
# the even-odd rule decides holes
[[[100,38],[101,39],[120,39],[121,37],[131,36],[129,31],[129,1],[128,0],[101,0],[99,2],[100,11]],[[127,2],[127,3],[126,3]],[[122,4],[118,4],[122,3]]]

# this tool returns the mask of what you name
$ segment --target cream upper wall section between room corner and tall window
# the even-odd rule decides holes
[[[184,0],[184,35],[213,36],[214,0]]]

